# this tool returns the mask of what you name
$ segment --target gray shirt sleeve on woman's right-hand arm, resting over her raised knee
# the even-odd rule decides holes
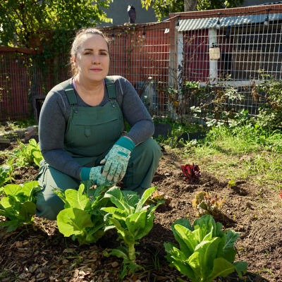
[[[128,80],[119,77],[116,92],[117,96],[122,96],[121,110],[125,121],[130,125],[130,131],[125,136],[130,137],[135,145],[138,145],[154,134],[152,117]]]

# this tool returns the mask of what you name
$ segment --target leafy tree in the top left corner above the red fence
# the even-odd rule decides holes
[[[113,0],[1,0],[0,43],[6,46],[36,47],[46,39],[42,32],[77,30],[109,23],[102,8]]]

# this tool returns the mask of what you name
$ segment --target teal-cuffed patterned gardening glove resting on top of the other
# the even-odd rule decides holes
[[[107,176],[107,180],[114,180],[115,183],[123,179],[134,147],[134,142],[129,138],[119,138],[109,153],[106,154],[106,157],[100,162],[100,164],[105,164],[102,176]]]

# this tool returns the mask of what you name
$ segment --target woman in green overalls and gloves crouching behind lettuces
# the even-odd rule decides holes
[[[56,85],[39,116],[44,161],[37,181],[37,215],[55,220],[63,202],[52,192],[81,181],[140,194],[149,188],[161,157],[154,123],[134,87],[109,72],[109,43],[94,28],[80,30],[71,48],[73,78]],[[122,136],[124,119],[130,131]],[[89,183],[88,182],[88,183]]]

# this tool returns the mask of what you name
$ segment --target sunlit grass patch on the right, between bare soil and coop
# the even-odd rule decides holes
[[[216,177],[228,181],[248,179],[277,191],[282,189],[281,131],[266,131],[249,124],[221,125],[211,128],[202,140],[177,142],[183,132],[195,132],[195,127],[174,123],[171,136],[158,137],[157,141],[175,148],[185,159]]]

